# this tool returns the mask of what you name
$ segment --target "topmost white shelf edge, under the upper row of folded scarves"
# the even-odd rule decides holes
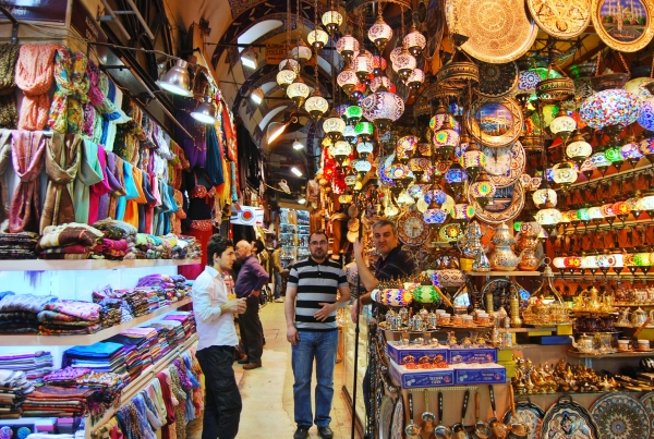
[[[202,264],[202,259],[17,259],[1,260],[0,271],[112,270],[116,268],[178,267],[195,264]]]

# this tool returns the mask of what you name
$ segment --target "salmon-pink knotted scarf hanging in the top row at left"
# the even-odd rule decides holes
[[[55,45],[23,45],[16,63],[16,85],[25,97],[19,118],[20,130],[43,130],[48,123],[50,96],[55,84]]]

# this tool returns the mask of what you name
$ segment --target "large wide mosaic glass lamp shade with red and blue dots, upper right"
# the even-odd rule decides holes
[[[632,93],[611,88],[596,93],[581,105],[579,115],[589,126],[601,130],[605,126],[627,126],[640,115],[641,100]]]

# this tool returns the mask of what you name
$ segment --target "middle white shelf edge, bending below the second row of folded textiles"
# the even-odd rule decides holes
[[[98,341],[106,340],[130,328],[144,324],[155,317],[168,314],[181,306],[190,304],[191,297],[184,297],[181,301],[174,302],[168,306],[162,306],[153,313],[145,316],[136,317],[124,324],[112,326],[111,328],[102,329],[96,333],[89,334],[73,334],[73,336],[35,336],[35,334],[7,334],[2,337],[2,345],[4,346],[73,346],[73,345],[89,345]]]

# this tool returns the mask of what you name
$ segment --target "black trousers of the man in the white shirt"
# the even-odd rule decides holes
[[[234,378],[234,347],[210,346],[196,353],[205,375],[202,439],[233,439],[241,419],[241,392]]]

